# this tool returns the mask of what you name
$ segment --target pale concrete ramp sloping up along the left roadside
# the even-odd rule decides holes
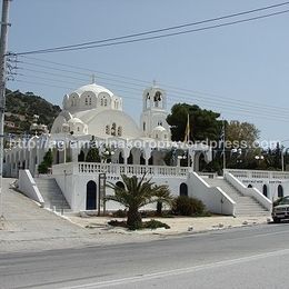
[[[113,232],[84,229],[40,208],[34,201],[10,189],[10,183],[13,181],[13,179],[3,179],[4,221],[1,221],[0,225],[0,253],[118,243],[120,241],[120,237]],[[138,241],[142,238],[136,237],[134,239]],[[122,236],[121,241],[131,240],[129,236]]]

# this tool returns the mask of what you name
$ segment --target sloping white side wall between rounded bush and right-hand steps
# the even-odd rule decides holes
[[[188,175],[189,196],[201,200],[215,213],[235,216],[235,201],[220,188],[208,186],[196,172]]]

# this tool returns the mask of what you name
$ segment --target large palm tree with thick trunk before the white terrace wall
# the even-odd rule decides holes
[[[139,209],[153,202],[166,202],[171,205],[172,197],[168,186],[157,186],[151,179],[144,180],[146,173],[139,180],[137,176],[127,177],[121,175],[124,188],[114,183],[108,183],[114,195],[107,196],[106,201],[117,201],[128,209],[127,226],[130,230],[141,228],[142,220]]]

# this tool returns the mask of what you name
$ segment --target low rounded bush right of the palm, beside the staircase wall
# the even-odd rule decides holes
[[[180,216],[201,216],[206,212],[206,206],[196,198],[180,196],[175,199],[172,212]]]

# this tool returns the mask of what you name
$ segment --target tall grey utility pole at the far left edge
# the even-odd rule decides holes
[[[0,219],[3,216],[3,153],[4,153],[4,108],[6,108],[6,58],[8,47],[9,4],[11,0],[2,0],[2,19],[0,37]]]

